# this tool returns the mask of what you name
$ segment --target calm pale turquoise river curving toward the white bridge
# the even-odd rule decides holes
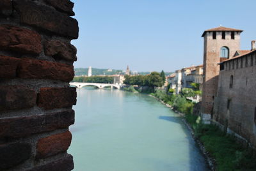
[[[208,170],[180,116],[155,98],[83,87],[74,110],[75,171]]]

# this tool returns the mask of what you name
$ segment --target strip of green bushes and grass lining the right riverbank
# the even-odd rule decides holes
[[[130,79],[129,83],[131,83],[132,78],[127,78]],[[134,84],[137,83],[137,79],[138,77],[133,78]],[[173,94],[174,90],[170,89],[170,86],[166,88],[168,91],[157,89],[152,93],[146,93],[172,106],[173,110],[184,114],[186,122],[195,132],[195,138],[202,142],[206,151],[214,158],[216,170],[256,170],[256,157],[251,147],[244,147],[244,145],[239,144],[234,136],[221,131],[214,124],[203,124],[200,117],[193,114],[195,103],[187,98],[200,95],[201,92],[198,90],[197,84],[192,84],[192,87],[193,89],[182,89],[180,94]],[[138,92],[132,85],[126,90]]]

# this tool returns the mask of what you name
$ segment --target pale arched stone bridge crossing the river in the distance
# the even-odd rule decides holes
[[[116,89],[120,89],[120,85],[119,84],[104,84],[104,83],[94,83],[94,82],[70,82],[70,85],[74,85],[77,88],[81,88],[84,86],[95,86],[98,87],[99,89],[103,89],[104,87],[111,87],[111,89],[113,89],[113,87],[115,87]]]

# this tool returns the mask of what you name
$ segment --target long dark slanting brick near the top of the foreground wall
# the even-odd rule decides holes
[[[78,38],[78,22],[51,7],[28,0],[13,0],[14,8],[19,12],[20,22],[36,26],[46,31]]]

